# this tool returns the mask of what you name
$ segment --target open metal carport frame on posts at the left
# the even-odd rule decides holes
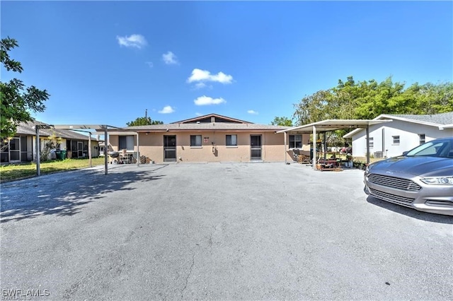
[[[55,124],[55,125],[50,125],[50,124],[40,124],[35,126],[35,131],[36,131],[36,175],[41,175],[41,170],[40,170],[40,148],[39,148],[39,141],[40,141],[40,129],[69,129],[72,131],[81,131],[84,133],[87,133],[88,135],[88,158],[90,160],[90,165],[91,165],[91,131],[88,130],[95,130],[96,133],[103,134],[104,135],[104,140],[105,140],[105,147],[108,149],[108,130],[109,129],[121,129],[120,127],[117,126],[109,126],[107,124]],[[137,133],[137,148],[139,145],[139,136]],[[105,175],[108,174],[108,153],[107,151],[105,152],[105,160],[104,160],[104,169],[105,169]],[[139,165],[139,160],[137,160],[137,165]]]

